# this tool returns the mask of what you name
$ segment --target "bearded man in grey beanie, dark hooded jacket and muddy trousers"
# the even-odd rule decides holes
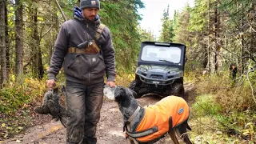
[[[80,9],[74,8],[74,19],[61,26],[48,70],[47,86],[52,89],[63,63],[69,114],[66,142],[69,144],[97,142],[95,133],[102,108],[105,72],[106,85],[115,86],[114,47],[110,30],[100,25],[99,9],[99,0],[82,0]],[[98,38],[97,34],[100,34]],[[82,42],[86,42],[85,46],[78,48]],[[91,46],[94,50],[88,50]]]

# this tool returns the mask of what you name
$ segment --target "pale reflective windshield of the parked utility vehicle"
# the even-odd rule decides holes
[[[142,61],[180,63],[181,54],[182,50],[178,47],[144,46]]]

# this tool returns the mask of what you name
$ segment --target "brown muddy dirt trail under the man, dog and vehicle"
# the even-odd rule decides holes
[[[186,95],[190,93],[194,86],[185,85]],[[142,106],[154,104],[161,100],[161,97],[155,94],[147,94],[137,99]],[[190,103],[190,102],[189,102]],[[40,125],[32,126],[26,129],[22,134],[15,135],[14,138],[4,141],[6,144],[17,143],[38,143],[38,144],[61,144],[66,143],[66,129],[60,122],[50,121],[50,116]],[[98,122],[97,138],[98,144],[128,144],[122,132],[123,122],[122,114],[118,109],[118,104],[110,101],[106,97],[101,110],[100,122]],[[172,143],[170,136],[160,139],[156,144]]]

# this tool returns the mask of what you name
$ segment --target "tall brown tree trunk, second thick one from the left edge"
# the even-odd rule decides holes
[[[15,76],[18,82],[23,82],[23,18],[22,18],[22,2],[16,0],[15,10]]]

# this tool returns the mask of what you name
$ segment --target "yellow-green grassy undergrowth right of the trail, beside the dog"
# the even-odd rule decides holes
[[[187,74],[197,75],[197,74]],[[254,88],[254,79],[251,80]],[[206,74],[195,82],[190,124],[195,143],[255,143],[256,103],[245,77],[235,82],[229,74]]]

